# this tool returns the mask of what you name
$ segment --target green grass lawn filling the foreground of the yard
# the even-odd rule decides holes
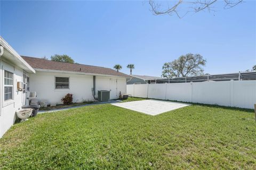
[[[15,124],[0,149],[0,169],[256,169],[256,124],[246,109],[103,104]]]

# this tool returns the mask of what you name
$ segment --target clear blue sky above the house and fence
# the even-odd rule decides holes
[[[20,55],[160,76],[165,62],[199,53],[205,73],[232,73],[256,64],[256,3],[215,13],[155,16],[146,1],[1,1],[1,36]]]

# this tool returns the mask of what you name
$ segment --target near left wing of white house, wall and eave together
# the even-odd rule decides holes
[[[0,36],[0,138],[16,120],[16,111],[25,105],[26,94],[17,88],[35,70]]]

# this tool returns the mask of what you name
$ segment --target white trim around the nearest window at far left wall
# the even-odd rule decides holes
[[[10,73],[12,73],[12,86],[11,85],[4,85],[4,72],[5,71],[9,71]],[[7,69],[7,68],[4,68],[3,66],[2,66],[2,77],[3,77],[3,82],[2,82],[2,84],[3,84],[3,107],[5,107],[5,106],[8,106],[8,105],[11,105],[11,104],[13,104],[14,103],[14,88],[15,88],[15,86],[14,86],[14,78],[15,78],[15,73],[14,73],[14,70],[12,71],[12,70],[9,70],[9,69]],[[4,100],[4,87],[12,87],[12,99],[8,99],[8,100]]]

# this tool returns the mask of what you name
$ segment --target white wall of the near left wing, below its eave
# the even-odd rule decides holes
[[[13,73],[13,99],[4,101],[4,70]],[[16,120],[16,111],[21,109],[23,93],[17,91],[17,82],[22,81],[23,70],[18,66],[0,60],[0,102],[1,102],[1,115],[0,115],[0,138],[2,135],[13,125]]]

